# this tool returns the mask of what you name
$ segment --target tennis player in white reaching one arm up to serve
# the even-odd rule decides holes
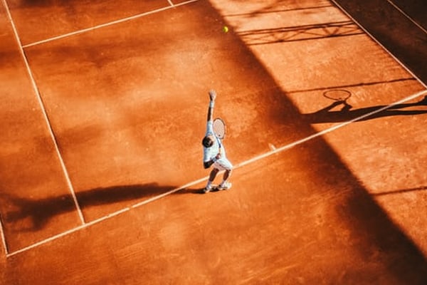
[[[201,141],[203,145],[203,165],[205,169],[208,169],[212,165],[214,169],[209,175],[209,180],[204,187],[204,193],[210,192],[212,190],[212,183],[215,180],[216,175],[221,170],[224,170],[223,181],[218,185],[218,190],[228,190],[231,188],[231,183],[228,182],[228,178],[231,175],[231,170],[233,170],[233,165],[226,157],[226,149],[224,148],[223,143],[219,138],[216,137],[214,133],[214,105],[216,99],[215,90],[209,91],[209,98],[211,101],[209,103],[208,109],[208,123],[206,125],[206,134]]]

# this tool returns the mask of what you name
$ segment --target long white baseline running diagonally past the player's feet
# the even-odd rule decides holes
[[[339,129],[339,128],[342,128],[342,127],[344,127],[344,126],[346,126],[346,125],[349,125],[350,123],[354,123],[354,122],[356,122],[356,121],[358,121],[358,120],[362,120],[362,119],[367,118],[367,117],[369,117],[369,116],[371,116],[371,115],[374,115],[374,114],[376,114],[376,113],[380,113],[380,112],[382,112],[383,110],[386,110],[386,109],[392,108],[394,105],[399,105],[399,104],[401,104],[401,103],[405,103],[405,102],[406,102],[406,101],[408,101],[408,100],[413,100],[413,99],[415,99],[415,98],[418,98],[418,97],[419,97],[419,96],[421,96],[421,95],[427,95],[427,90],[422,90],[422,91],[420,91],[420,92],[418,92],[418,93],[415,93],[415,94],[413,94],[413,95],[410,95],[410,96],[408,96],[408,97],[406,97],[406,98],[404,98],[404,99],[402,99],[402,100],[399,100],[399,101],[397,101],[397,102],[395,102],[395,103],[391,103],[390,105],[386,105],[386,106],[384,106],[383,108],[379,108],[378,110],[374,110],[374,111],[372,111],[372,112],[370,112],[370,113],[367,113],[367,114],[365,114],[365,115],[362,115],[362,116],[360,116],[360,117],[358,117],[358,118],[354,118],[353,120],[349,120],[349,121],[347,121],[347,122],[344,122],[344,123],[341,123],[341,124],[335,125],[335,126],[334,126],[334,127],[332,127],[332,128],[328,128],[328,129],[326,129],[326,130],[322,130],[321,132],[319,132],[319,133],[315,133],[314,135],[310,135],[310,136],[308,136],[307,138],[303,138],[302,140],[297,140],[297,141],[292,142],[292,143],[290,143],[290,144],[288,144],[288,145],[284,145],[283,147],[278,147],[278,148],[275,148],[274,150],[271,150],[271,151],[269,151],[269,152],[265,152],[265,153],[264,153],[264,154],[262,154],[262,155],[258,155],[258,156],[256,156],[256,157],[251,158],[250,160],[246,160],[246,161],[244,161],[244,162],[239,163],[238,165],[236,165],[236,166],[235,166],[235,168],[243,167],[243,166],[245,166],[245,165],[248,165],[248,164],[250,164],[250,163],[256,162],[256,161],[258,161],[258,160],[262,160],[262,159],[263,159],[263,158],[265,158],[265,157],[269,157],[269,156],[271,156],[271,155],[274,155],[274,154],[276,154],[276,153],[278,153],[278,152],[283,152],[284,150],[288,150],[288,149],[290,149],[291,147],[295,147],[296,145],[300,145],[300,144],[302,144],[302,143],[304,143],[304,142],[307,142],[308,140],[313,140],[313,139],[318,138],[318,137],[320,137],[320,136],[322,136],[322,135],[325,135],[325,134],[327,134],[327,133],[331,133],[332,131],[337,130],[337,129]],[[206,180],[208,179],[208,177],[209,177],[209,176],[206,176],[206,177],[203,177],[203,178],[201,178],[201,179],[199,179],[199,180],[195,180],[195,181],[193,181],[193,182],[189,182],[189,183],[187,183],[186,185],[183,185],[183,186],[181,186],[181,187],[175,188],[174,190],[170,190],[170,191],[168,191],[168,192],[164,192],[164,193],[163,193],[163,194],[161,194],[161,195],[157,195],[157,196],[154,196],[154,197],[152,197],[152,198],[146,199],[146,200],[144,200],[144,201],[142,201],[142,202],[139,202],[139,203],[137,203],[137,204],[134,204],[134,205],[132,205],[132,206],[130,206],[130,207],[126,207],[125,209],[120,209],[119,211],[117,211],[117,212],[113,212],[112,214],[107,214],[105,217],[101,217],[100,219],[96,219],[96,220],[94,220],[94,221],[92,221],[92,222],[88,222],[87,224],[83,224],[83,225],[82,225],[82,226],[80,226],[80,227],[75,227],[74,229],[70,229],[70,230],[68,230],[68,231],[66,231],[66,232],[63,232],[63,233],[57,234],[56,236],[49,237],[48,239],[44,239],[44,240],[43,240],[43,241],[41,241],[41,242],[37,242],[37,243],[35,243],[35,244],[31,244],[30,246],[28,246],[28,247],[24,247],[23,249],[19,249],[19,250],[17,250],[16,252],[11,252],[10,254],[7,254],[7,255],[6,255],[6,257],[11,257],[11,256],[14,256],[15,254],[19,254],[19,253],[21,253],[21,252],[26,252],[28,249],[33,249],[34,247],[38,247],[38,246],[40,246],[40,245],[42,245],[42,244],[46,244],[46,243],[51,242],[51,241],[53,241],[53,240],[55,240],[55,239],[59,239],[60,237],[64,237],[64,236],[66,236],[66,235],[68,235],[68,234],[71,234],[71,233],[73,233],[73,232],[76,232],[76,231],[78,231],[78,230],[80,230],[80,229],[84,229],[85,227],[89,227],[90,225],[97,224],[97,223],[99,223],[99,222],[105,221],[106,219],[110,219],[110,218],[115,217],[115,216],[117,216],[117,215],[119,215],[119,214],[122,214],[122,213],[124,213],[124,212],[127,212],[127,211],[129,211],[130,209],[134,209],[134,208],[140,207],[140,206],[142,206],[142,205],[144,205],[144,204],[148,204],[148,203],[150,203],[150,202],[154,202],[154,201],[156,201],[156,200],[158,200],[158,199],[161,199],[161,198],[163,198],[163,197],[166,197],[166,196],[168,196],[168,195],[171,195],[171,194],[173,194],[173,193],[175,193],[175,192],[178,192],[178,191],[180,191],[180,190],[184,190],[184,189],[186,189],[186,188],[188,188],[188,187],[191,187],[191,186],[197,185],[197,184],[199,184],[199,183],[201,183],[201,182],[206,181]]]

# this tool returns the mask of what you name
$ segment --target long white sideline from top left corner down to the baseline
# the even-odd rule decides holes
[[[80,205],[78,204],[77,197],[75,197],[74,187],[71,184],[71,180],[70,180],[70,177],[68,175],[67,167],[65,167],[63,157],[60,153],[58,142],[56,141],[55,133],[53,133],[51,121],[49,120],[48,113],[46,113],[46,109],[44,108],[43,99],[41,98],[40,91],[38,90],[36,81],[34,80],[34,77],[33,77],[33,73],[31,72],[31,68],[30,68],[30,65],[28,64],[28,60],[26,58],[25,51],[23,51],[23,48],[21,45],[21,39],[19,38],[18,31],[16,30],[16,26],[14,24],[14,20],[12,19],[11,12],[9,11],[9,6],[7,6],[6,0],[3,0],[3,4],[4,4],[4,8],[6,9],[6,13],[9,17],[9,21],[11,22],[11,27],[14,30],[14,36],[15,36],[15,39],[18,43],[19,51],[21,51],[21,56],[23,58],[23,62],[25,63],[26,70],[27,70],[28,76],[30,78],[31,84],[33,86],[34,93],[36,93],[36,98],[38,100],[38,104],[40,105],[41,111],[43,113],[43,118],[46,121],[46,126],[48,127],[49,134],[51,135],[51,140],[53,142],[53,145],[55,146],[56,155],[58,156],[60,166],[63,170],[63,175],[65,177],[65,180],[67,181],[68,189],[70,190],[71,196],[73,197],[74,205],[78,211],[78,216],[80,217],[80,222],[82,222],[82,224],[85,224],[85,218],[83,217],[82,210],[80,209]]]

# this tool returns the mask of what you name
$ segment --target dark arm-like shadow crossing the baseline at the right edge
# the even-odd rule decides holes
[[[339,105],[342,105],[342,108],[339,108],[339,110],[333,110]],[[305,113],[302,115],[305,120],[310,123],[338,123],[347,122],[349,120],[362,121],[394,115],[420,115],[427,113],[427,108],[404,110],[406,108],[419,106],[427,106],[427,96],[425,96],[422,100],[416,103],[377,105],[358,109],[353,109],[353,106],[349,105],[349,103],[347,103],[347,100],[337,100],[334,101],[331,105],[314,113]]]

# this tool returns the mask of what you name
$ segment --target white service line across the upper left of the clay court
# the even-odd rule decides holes
[[[4,1],[6,1],[6,0],[4,0]],[[199,0],[190,0],[190,1],[179,3],[179,4],[172,4],[172,2],[169,1],[169,4],[171,4],[171,5],[170,6],[166,6],[164,8],[156,9],[156,10],[153,10],[153,11],[148,11],[148,12],[145,12],[145,13],[142,13],[142,14],[137,14],[135,16],[130,16],[130,17],[127,17],[127,18],[116,20],[116,21],[111,21],[109,23],[100,24],[100,25],[93,26],[93,27],[90,27],[90,28],[83,28],[82,30],[73,31],[71,33],[64,33],[63,35],[54,36],[53,38],[46,38],[46,40],[36,41],[34,43],[28,43],[28,44],[26,44],[25,46],[22,46],[22,47],[23,48],[29,48],[30,46],[36,46],[36,45],[39,45],[41,43],[48,43],[49,41],[55,41],[55,40],[58,40],[60,38],[66,38],[68,36],[74,36],[74,35],[77,35],[79,33],[85,33],[85,32],[88,32],[88,31],[93,31],[93,30],[96,30],[98,28],[104,28],[106,26],[112,26],[112,25],[115,25],[115,24],[120,24],[120,23],[123,23],[125,21],[130,21],[130,20],[133,20],[133,19],[140,18],[142,16],[147,16],[149,14],[158,13],[158,12],[165,11],[165,10],[168,10],[168,9],[176,8],[178,6],[183,6],[183,5],[186,5],[186,4],[190,4],[190,3],[193,3],[193,2],[196,2],[196,1],[199,1]]]

